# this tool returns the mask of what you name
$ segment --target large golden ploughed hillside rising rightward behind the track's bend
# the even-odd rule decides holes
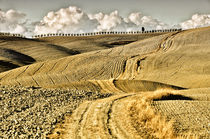
[[[209,87],[209,37],[210,28],[171,32],[8,71],[0,74],[1,84],[68,87],[76,82],[73,88],[79,89],[78,82],[84,81],[103,88],[98,83],[102,80],[105,84],[143,80],[182,88]]]

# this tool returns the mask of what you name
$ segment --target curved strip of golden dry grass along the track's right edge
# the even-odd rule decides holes
[[[171,90],[158,90],[149,92],[143,95],[141,99],[131,103],[128,107],[128,111],[135,129],[138,132],[141,132],[143,129],[147,134],[149,132],[152,138],[158,139],[197,139],[198,137],[192,135],[191,132],[185,135],[177,135],[173,128],[174,121],[167,121],[166,117],[155,113],[151,108],[151,101],[176,95],[179,94],[175,94]]]

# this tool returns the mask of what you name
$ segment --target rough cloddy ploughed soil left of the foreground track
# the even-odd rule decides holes
[[[111,94],[34,87],[0,87],[0,137],[46,138],[84,101],[102,99]]]

